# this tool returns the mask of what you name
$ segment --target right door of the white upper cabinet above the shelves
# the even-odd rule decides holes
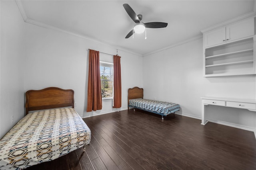
[[[249,18],[226,27],[226,41],[254,35],[254,18]]]

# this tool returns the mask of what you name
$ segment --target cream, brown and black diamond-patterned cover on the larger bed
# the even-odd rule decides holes
[[[0,141],[0,169],[22,169],[54,160],[90,143],[91,131],[73,108],[36,111]]]

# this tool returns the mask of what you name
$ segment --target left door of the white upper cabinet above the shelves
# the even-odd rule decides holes
[[[204,47],[226,42],[226,27],[204,33]]]

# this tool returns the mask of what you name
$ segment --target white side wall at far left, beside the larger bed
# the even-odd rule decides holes
[[[25,23],[15,1],[0,1],[0,4],[0,138],[2,138],[24,116]]]

